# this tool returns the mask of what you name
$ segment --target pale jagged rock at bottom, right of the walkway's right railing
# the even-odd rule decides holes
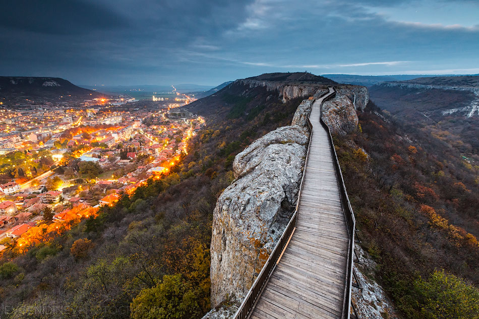
[[[383,288],[373,279],[377,264],[360,246],[355,245],[360,264],[354,264],[354,272],[363,289],[352,288],[352,304],[362,319],[398,319],[392,301]]]

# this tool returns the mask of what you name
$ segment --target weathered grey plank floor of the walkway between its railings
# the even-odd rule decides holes
[[[250,318],[341,318],[349,235],[328,134],[313,104],[313,134],[296,228]],[[348,303],[346,303],[348,304]]]

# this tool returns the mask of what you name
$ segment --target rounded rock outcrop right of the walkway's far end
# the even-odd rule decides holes
[[[323,103],[323,119],[331,132],[341,135],[352,132],[358,123],[351,100],[339,92],[334,98]]]

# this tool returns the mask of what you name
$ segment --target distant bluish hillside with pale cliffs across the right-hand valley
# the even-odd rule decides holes
[[[462,154],[479,154],[479,76],[383,82],[369,93],[398,120],[421,127]]]

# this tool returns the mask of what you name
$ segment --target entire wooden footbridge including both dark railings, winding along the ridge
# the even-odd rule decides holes
[[[309,115],[311,138],[296,209],[235,319],[355,318],[351,313],[354,214],[322,103]]]

